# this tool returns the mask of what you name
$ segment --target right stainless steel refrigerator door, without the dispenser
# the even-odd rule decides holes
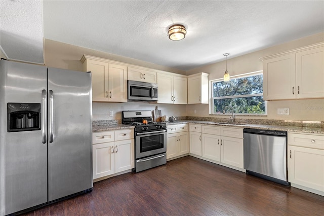
[[[93,187],[91,73],[48,68],[49,201]]]

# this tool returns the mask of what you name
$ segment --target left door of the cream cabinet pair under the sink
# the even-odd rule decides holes
[[[203,133],[203,157],[221,161],[220,136]]]

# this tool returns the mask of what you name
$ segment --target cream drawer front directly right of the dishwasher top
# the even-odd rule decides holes
[[[324,136],[302,133],[288,133],[288,145],[312,149],[324,149]]]

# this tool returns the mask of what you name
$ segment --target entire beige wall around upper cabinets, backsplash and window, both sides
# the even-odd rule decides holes
[[[145,61],[131,59],[123,56],[117,56],[109,53],[99,52],[83,47],[77,47],[51,40],[44,40],[44,56],[45,64],[50,67],[58,67],[72,70],[82,70],[81,57],[84,54],[97,56],[101,58],[121,61],[129,64],[170,71],[178,74],[195,74],[208,73],[209,80],[221,78],[224,74],[225,61],[198,67],[187,72],[170,68],[162,65],[156,65]],[[324,32],[311,35],[296,41],[281,44],[275,47],[267,48],[261,51],[230,58],[227,61],[227,69],[231,76],[245,74],[252,71],[262,70],[261,57],[272,55],[279,52],[307,46],[324,41]],[[220,54],[222,55],[222,53]],[[155,106],[159,107],[163,115],[169,116],[198,116],[198,117],[224,117],[209,115],[208,104],[193,105],[173,105],[173,104],[152,104],[140,102],[128,103],[93,103],[93,119],[109,120],[121,119],[122,110],[154,110]],[[266,117],[247,117],[237,116],[236,118],[257,118],[257,119],[285,119],[285,120],[308,120],[308,121],[324,121],[324,99],[305,99],[305,100],[283,100],[268,101],[268,115]],[[278,108],[289,108],[290,115],[277,115]],[[108,117],[108,111],[113,111],[113,117]],[[196,113],[194,113],[196,111]],[[225,118],[225,117],[224,117]],[[227,117],[226,117],[227,118]]]

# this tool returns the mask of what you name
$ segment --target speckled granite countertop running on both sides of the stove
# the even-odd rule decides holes
[[[179,120],[174,122],[166,122],[167,125],[173,124],[204,124],[212,126],[225,126],[225,127],[237,127],[237,128],[254,128],[254,129],[264,129],[264,130],[280,130],[288,132],[301,132],[301,133],[313,133],[313,134],[324,134],[324,128],[321,127],[299,127],[299,126],[285,126],[285,125],[264,125],[264,124],[215,124],[211,121],[197,121],[197,120]],[[124,124],[111,124],[111,125],[96,125],[92,126],[92,132],[103,132],[109,130],[125,130],[133,129],[134,126],[124,125]]]

